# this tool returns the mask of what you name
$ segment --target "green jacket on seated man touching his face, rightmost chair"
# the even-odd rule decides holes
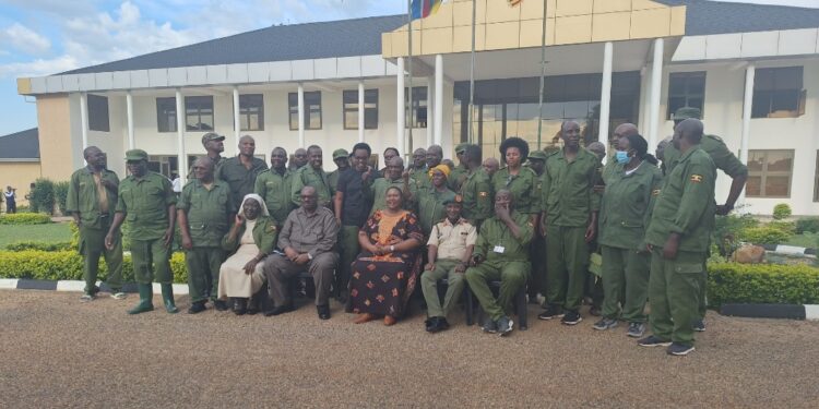
[[[529,220],[529,215],[512,210],[512,220],[521,229],[521,238],[515,239],[509,227],[492,216],[480,225],[480,232],[475,243],[473,254],[482,255],[486,261],[499,262],[527,262],[529,263],[529,243],[535,233],[535,228]],[[503,253],[495,251],[496,246],[502,246]]]

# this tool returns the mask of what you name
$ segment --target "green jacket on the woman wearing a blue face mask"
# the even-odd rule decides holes
[[[641,249],[662,183],[660,168],[648,161],[631,175],[626,175],[622,165],[612,167],[601,201],[597,242],[617,249]]]

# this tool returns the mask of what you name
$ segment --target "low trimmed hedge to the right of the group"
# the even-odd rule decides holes
[[[708,270],[708,300],[714,308],[725,303],[819,303],[819,268],[717,263],[710,264]]]

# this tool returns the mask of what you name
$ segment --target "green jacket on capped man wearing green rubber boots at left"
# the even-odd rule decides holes
[[[170,181],[159,173],[131,175],[119,183],[117,213],[126,214],[132,240],[161,239],[168,229],[168,207],[175,204]]]

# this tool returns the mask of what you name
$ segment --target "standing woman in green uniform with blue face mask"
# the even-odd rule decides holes
[[[629,323],[627,335],[637,338],[645,330],[651,265],[651,254],[641,244],[663,175],[642,136],[622,136],[616,147],[617,165],[601,203],[598,242],[605,297],[603,318],[594,329],[614,328],[621,318]]]

